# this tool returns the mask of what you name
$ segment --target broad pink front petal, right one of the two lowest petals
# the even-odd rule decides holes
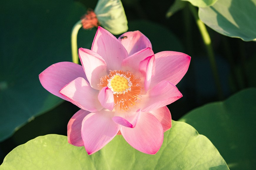
[[[161,123],[154,115],[147,112],[141,114],[136,127],[122,126],[120,131],[132,147],[146,154],[156,154],[164,139]]]

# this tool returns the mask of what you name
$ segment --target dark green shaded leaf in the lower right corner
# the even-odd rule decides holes
[[[256,89],[187,113],[180,121],[207,136],[231,169],[255,169]]]

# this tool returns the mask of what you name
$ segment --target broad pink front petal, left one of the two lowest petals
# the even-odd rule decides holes
[[[84,118],[82,139],[89,155],[97,152],[117,135],[121,126],[113,122],[113,115],[114,112],[101,110]]]

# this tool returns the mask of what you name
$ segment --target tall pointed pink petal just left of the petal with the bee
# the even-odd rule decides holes
[[[122,61],[128,56],[117,38],[102,27],[98,27],[91,50],[102,56],[107,63],[107,70],[121,69]]]

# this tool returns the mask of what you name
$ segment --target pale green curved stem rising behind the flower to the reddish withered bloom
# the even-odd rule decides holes
[[[71,50],[72,50],[72,61],[78,64],[78,52],[77,52],[77,34],[79,29],[82,27],[81,20],[79,20],[72,28],[71,31]]]

